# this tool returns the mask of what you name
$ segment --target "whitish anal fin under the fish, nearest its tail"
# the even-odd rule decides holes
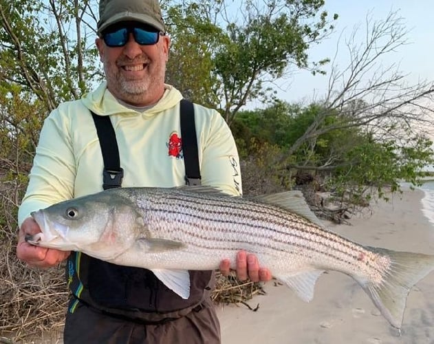
[[[316,280],[323,272],[324,270],[309,270],[291,275],[277,275],[276,278],[294,290],[300,299],[310,302],[314,298]]]

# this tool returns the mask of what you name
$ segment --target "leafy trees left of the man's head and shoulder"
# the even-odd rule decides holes
[[[98,80],[91,5],[75,3],[0,0],[0,172],[28,173],[47,114]]]

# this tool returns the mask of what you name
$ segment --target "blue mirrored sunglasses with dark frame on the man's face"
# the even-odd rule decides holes
[[[102,39],[108,47],[123,47],[129,40],[129,34],[132,33],[134,40],[140,45],[153,45],[158,43],[163,32],[149,31],[144,28],[134,26],[124,26],[116,30],[102,32]]]

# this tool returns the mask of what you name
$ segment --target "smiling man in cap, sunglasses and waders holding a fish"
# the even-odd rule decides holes
[[[101,191],[104,162],[91,112],[109,116],[116,131],[122,186],[185,184],[182,154],[171,153],[170,147],[171,138],[182,140],[182,95],[164,84],[169,45],[157,0],[101,0],[96,46],[106,82],[80,100],[61,104],[44,122],[19,208],[17,256],[39,268],[68,259],[72,297],[65,343],[220,342],[209,298],[213,272],[191,272],[192,295],[183,300],[149,270],[25,242],[25,235],[41,231],[31,211]],[[228,126],[217,111],[195,105],[195,115],[202,184],[240,194],[237,149]],[[229,266],[228,259],[221,262],[224,275]],[[239,252],[236,266],[239,279],[271,278],[246,252]]]

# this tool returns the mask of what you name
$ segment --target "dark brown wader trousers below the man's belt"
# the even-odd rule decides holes
[[[185,316],[144,325],[109,316],[79,303],[67,314],[65,344],[220,344],[220,326],[210,299]]]

